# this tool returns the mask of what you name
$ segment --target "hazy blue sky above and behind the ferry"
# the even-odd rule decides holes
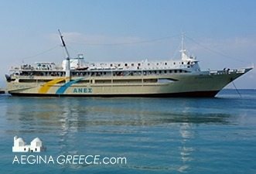
[[[179,59],[182,33],[201,70],[256,64],[256,1],[0,0],[0,86],[21,63],[70,56],[89,62]],[[235,80],[256,89],[255,70]],[[234,88],[232,85],[229,88]]]

